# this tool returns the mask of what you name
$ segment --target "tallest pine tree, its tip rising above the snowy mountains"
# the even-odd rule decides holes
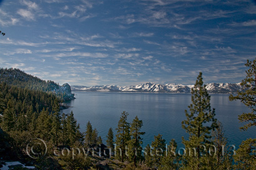
[[[203,85],[202,73],[199,73],[195,86],[191,90],[192,104],[188,106],[190,113],[185,110],[187,120],[182,121],[182,128],[190,135],[188,141],[182,138],[186,149],[191,149],[193,155],[184,154],[185,167],[192,169],[202,168],[201,150],[202,145],[207,147],[210,144],[211,131],[217,128],[217,119],[215,119],[215,109],[211,109],[210,96],[207,93],[206,86]]]

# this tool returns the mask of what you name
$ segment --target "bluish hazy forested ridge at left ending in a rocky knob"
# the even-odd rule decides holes
[[[28,88],[31,90],[44,91],[46,93],[54,93],[64,101],[74,99],[71,93],[71,87],[68,83],[59,86],[53,81],[44,81],[35,76],[24,73],[19,69],[0,69],[0,83],[6,83],[19,88]]]

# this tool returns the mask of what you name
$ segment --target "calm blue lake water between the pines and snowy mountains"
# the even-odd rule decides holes
[[[154,136],[159,134],[167,143],[175,139],[182,146],[182,136],[188,134],[182,129],[182,121],[186,119],[185,109],[191,103],[191,94],[170,93],[101,93],[74,92],[75,98],[69,101],[73,108],[63,110],[64,113],[73,111],[74,117],[80,124],[81,131],[86,129],[86,123],[91,122],[99,135],[106,141],[108,129],[117,127],[123,111],[129,113],[128,121],[138,116],[143,121],[146,134],[143,136],[143,146],[150,144]],[[248,109],[240,101],[229,101],[228,94],[212,94],[211,104],[215,108],[216,118],[221,121],[230,144],[236,147],[247,138],[256,138],[256,128],[240,131],[242,123],[238,123],[238,115]]]

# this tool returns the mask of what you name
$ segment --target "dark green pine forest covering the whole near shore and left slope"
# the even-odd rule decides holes
[[[256,126],[256,59],[245,65],[244,91],[230,95],[231,101],[240,100],[251,111],[238,118],[246,123],[243,131]],[[184,148],[177,148],[174,139],[165,141],[161,134],[142,148],[143,121],[136,116],[128,123],[125,111],[117,123],[116,136],[110,128],[105,145],[90,121],[81,133],[72,112],[59,113],[59,96],[23,85],[8,79],[0,84],[0,168],[6,161],[20,161],[35,169],[256,168],[256,139],[246,139],[237,150],[228,144],[210,106],[202,73],[191,91],[187,119],[181,124],[189,134],[188,139],[182,139]]]

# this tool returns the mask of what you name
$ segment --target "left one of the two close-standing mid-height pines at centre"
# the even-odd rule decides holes
[[[127,159],[125,152],[128,146],[128,141],[131,139],[130,124],[127,122],[128,115],[129,114],[125,111],[121,113],[120,120],[118,121],[118,128],[116,128],[116,157],[120,159],[122,163]]]

